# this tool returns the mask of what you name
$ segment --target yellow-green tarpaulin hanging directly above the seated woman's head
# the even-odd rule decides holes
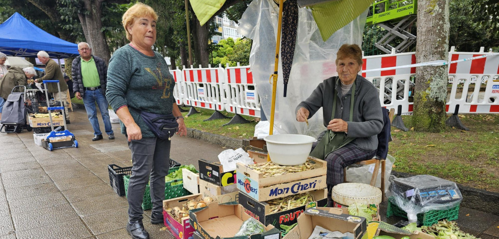
[[[328,40],[342,28],[364,12],[374,0],[339,0],[312,5],[312,15],[320,31],[322,40]]]

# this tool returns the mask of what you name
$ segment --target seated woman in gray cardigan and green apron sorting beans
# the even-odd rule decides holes
[[[361,70],[361,48],[342,45],[336,58],[338,76],[320,83],[296,108],[297,120],[305,122],[322,107],[327,130],[318,135],[310,155],[328,162],[329,205],[333,186],[343,183],[343,168],[373,158],[383,129],[378,90],[358,75]]]

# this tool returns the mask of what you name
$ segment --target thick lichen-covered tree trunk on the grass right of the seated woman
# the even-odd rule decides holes
[[[418,1],[416,61],[447,60],[449,0]],[[416,68],[413,124],[417,131],[445,129],[448,65]]]

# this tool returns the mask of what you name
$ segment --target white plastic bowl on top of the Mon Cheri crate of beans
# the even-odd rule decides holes
[[[317,141],[312,136],[302,134],[273,134],[263,140],[267,142],[270,160],[286,166],[305,163],[312,149],[312,143]]]

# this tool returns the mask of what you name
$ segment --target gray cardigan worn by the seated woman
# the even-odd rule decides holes
[[[351,144],[364,151],[377,149],[377,134],[383,129],[383,111],[379,102],[378,90],[364,77],[357,75],[355,80],[355,101],[353,122],[348,122],[347,137],[357,138]],[[338,92],[335,118],[349,120],[351,89],[342,95],[338,77],[331,77],[321,82],[312,94],[298,104],[296,112],[303,107],[310,111],[310,119],[320,107],[324,117],[324,126],[331,121],[333,110],[333,90]]]

